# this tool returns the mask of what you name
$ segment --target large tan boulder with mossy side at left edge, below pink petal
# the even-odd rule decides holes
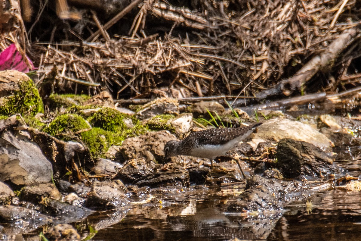
[[[16,70],[0,71],[0,115],[34,116],[43,112],[43,102],[34,82]]]

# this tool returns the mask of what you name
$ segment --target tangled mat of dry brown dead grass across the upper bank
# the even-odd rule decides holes
[[[38,85],[41,88],[49,76],[55,76],[53,85],[66,87],[64,91],[79,92],[79,85],[93,92],[105,87],[118,98],[144,97],[168,86],[185,88],[190,96],[252,97],[327,51],[340,33],[359,24],[360,17],[355,0],[192,3],[201,10],[144,1],[129,31],[131,37],[109,38],[104,28],[99,39],[92,35],[89,41],[34,42]],[[147,36],[152,20],[164,23],[166,34]],[[182,30],[182,36],[173,36],[175,29]],[[336,67],[330,71],[334,81],[322,73],[314,78],[321,76],[319,86],[324,90],[337,92],[345,76],[357,71],[351,63],[360,46],[349,44],[342,57],[330,60],[329,66]],[[309,88],[309,92],[317,90]]]

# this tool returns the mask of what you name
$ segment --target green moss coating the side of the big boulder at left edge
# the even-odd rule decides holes
[[[13,95],[4,98],[0,104],[1,115],[20,113],[23,116],[34,116],[39,112],[43,112],[43,102],[30,78],[20,81]]]

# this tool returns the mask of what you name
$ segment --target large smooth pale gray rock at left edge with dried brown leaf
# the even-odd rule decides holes
[[[51,181],[52,165],[27,132],[14,135],[11,130],[5,130],[1,133],[0,153],[3,154],[0,160],[2,181],[10,180],[16,185],[28,186]]]

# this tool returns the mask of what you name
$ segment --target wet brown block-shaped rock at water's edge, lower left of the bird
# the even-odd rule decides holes
[[[127,188],[120,180],[95,181],[88,194],[85,206],[97,210],[119,208],[130,203]]]

